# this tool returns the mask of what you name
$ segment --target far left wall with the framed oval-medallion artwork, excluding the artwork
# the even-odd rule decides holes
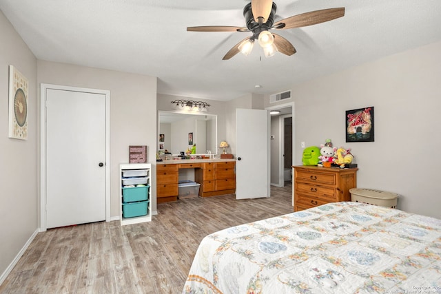
[[[37,233],[37,59],[0,11],[0,277]],[[28,140],[8,138],[9,65],[28,78]],[[0,280],[1,282],[1,280]]]

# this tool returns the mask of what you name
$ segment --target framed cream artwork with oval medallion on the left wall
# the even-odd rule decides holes
[[[28,78],[9,65],[9,138],[28,139]]]

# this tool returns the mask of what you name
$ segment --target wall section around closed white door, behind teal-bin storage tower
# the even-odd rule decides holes
[[[38,83],[110,90],[110,213],[119,216],[119,165],[129,161],[129,145],[147,145],[148,162],[156,168],[156,77],[38,61]],[[155,195],[153,177],[154,212]]]

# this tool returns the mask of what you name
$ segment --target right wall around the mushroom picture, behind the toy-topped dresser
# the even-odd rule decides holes
[[[398,208],[441,218],[441,42],[292,85],[295,144],[352,149],[358,187],[400,194]],[[267,104],[268,98],[265,98]],[[375,107],[375,142],[345,142],[345,111]],[[294,158],[301,165],[302,149]]]

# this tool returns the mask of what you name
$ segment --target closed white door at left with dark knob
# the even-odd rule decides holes
[[[46,227],[106,220],[105,94],[45,94]]]

